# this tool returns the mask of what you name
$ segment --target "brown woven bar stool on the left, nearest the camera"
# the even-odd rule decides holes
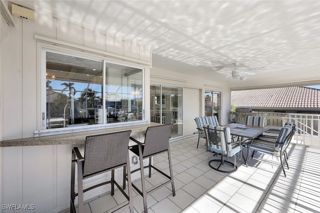
[[[128,193],[119,186],[114,180],[114,170],[119,167],[126,168],[130,174],[130,162],[128,154],[128,144],[131,130],[109,133],[103,135],[87,136],[85,139],[84,157],[81,156],[77,147],[72,149],[71,155],[71,194],[70,194],[70,213],[75,213],[74,200],[78,197],[78,213],[83,213],[83,193],[105,184],[111,184],[111,196],[114,195],[114,185],[120,190],[128,200],[124,206],[115,211],[129,207],[133,213],[133,199],[131,188],[131,177],[127,177]],[[75,164],[77,164],[77,193],[75,193]],[[99,183],[95,186],[83,189],[83,180],[111,171],[111,179]],[[123,182],[125,185],[125,182]],[[105,207],[105,212],[114,207]]]

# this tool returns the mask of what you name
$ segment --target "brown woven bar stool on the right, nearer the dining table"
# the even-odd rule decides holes
[[[147,213],[147,203],[146,197],[151,192],[158,190],[167,184],[171,183],[172,188],[172,195],[175,196],[174,190],[174,182],[173,182],[173,173],[172,173],[172,162],[170,156],[170,149],[169,149],[169,139],[170,133],[173,124],[165,124],[159,126],[148,127],[145,132],[144,143],[139,142],[134,138],[130,138],[132,141],[137,143],[137,145],[133,146],[130,151],[132,151],[135,155],[139,157],[140,167],[136,170],[131,171],[131,174],[137,171],[140,171],[141,174],[141,185],[142,191],[139,190],[135,184],[132,183],[132,187],[142,196],[143,199],[143,207],[144,213]],[[151,164],[151,157],[155,155],[159,155],[162,153],[167,153],[168,156],[168,164],[169,164],[169,172],[170,174],[167,175],[161,171],[161,169],[156,168],[154,165]],[[143,159],[149,159],[149,164],[147,166],[143,166]],[[151,168],[156,170],[159,174],[161,174],[166,180],[157,186],[149,189],[146,191],[145,188],[145,177],[144,177],[144,168],[148,168],[148,177],[151,178]],[[125,178],[128,178],[130,173],[125,175]]]

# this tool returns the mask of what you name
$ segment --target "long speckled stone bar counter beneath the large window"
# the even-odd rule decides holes
[[[125,127],[106,128],[100,130],[90,130],[83,132],[65,133],[50,136],[20,138],[4,140],[0,142],[0,147],[20,147],[20,146],[45,146],[45,145],[65,145],[65,144],[84,144],[85,137],[90,135],[99,135],[112,132],[131,130],[131,135],[144,134],[147,127],[156,126],[158,123],[149,123],[142,125],[132,125]]]

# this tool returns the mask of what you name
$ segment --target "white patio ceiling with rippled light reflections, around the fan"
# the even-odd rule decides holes
[[[320,1],[12,2],[149,45],[153,67],[196,73],[231,87],[302,81],[320,84]],[[245,81],[237,84],[229,76],[232,63],[238,63]],[[241,71],[256,67],[264,68]]]

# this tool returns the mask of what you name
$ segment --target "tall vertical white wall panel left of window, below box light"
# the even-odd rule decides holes
[[[2,139],[22,137],[22,19],[9,28],[10,36],[2,42]]]

